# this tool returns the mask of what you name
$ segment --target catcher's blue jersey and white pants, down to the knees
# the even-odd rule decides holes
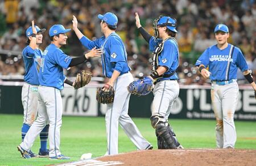
[[[176,69],[179,66],[179,49],[174,37],[166,40],[155,40],[151,37],[150,50],[154,53],[152,70],[159,66],[167,67],[166,73],[156,81],[154,87],[154,100],[152,116],[160,114],[166,121],[171,113],[172,105],[179,96],[179,84],[177,83]]]

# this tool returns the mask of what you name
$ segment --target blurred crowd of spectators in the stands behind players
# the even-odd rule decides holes
[[[97,15],[108,11],[118,16],[117,33],[125,42],[134,77],[150,74],[151,62],[148,45],[135,26],[136,11],[143,27],[151,35],[152,22],[159,15],[170,15],[177,19],[180,51],[177,72],[182,84],[205,83],[193,65],[208,46],[216,44],[213,29],[219,23],[228,25],[229,42],[242,50],[249,69],[256,74],[254,0],[0,0],[0,75],[24,74],[20,53],[26,46],[25,31],[30,27],[31,20],[34,19],[40,28],[47,28],[43,33],[43,44],[40,45],[40,49],[44,50],[50,43],[48,29],[53,24],[72,28],[72,15],[77,17],[79,28],[89,39],[102,36]],[[68,44],[61,48],[65,53],[76,57],[88,51],[80,44],[75,32],[67,35]],[[75,76],[82,69],[92,71],[94,76],[102,76],[101,59],[91,59],[78,67],[72,67],[66,74]],[[243,79],[240,71],[238,79]]]

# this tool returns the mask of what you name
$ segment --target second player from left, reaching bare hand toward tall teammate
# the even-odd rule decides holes
[[[60,47],[66,44],[68,39],[66,33],[70,30],[60,24],[53,25],[49,29],[51,44],[43,52],[39,71],[38,116],[28,130],[24,141],[18,146],[18,150],[24,158],[30,158],[28,151],[37,135],[49,121],[49,159],[69,159],[60,152],[60,127],[63,112],[60,91],[64,88],[64,82],[71,86],[75,86],[75,82],[71,82],[64,76],[63,69],[79,65],[89,57],[102,54],[101,49],[96,50],[96,48],[77,58],[71,58],[64,54]]]

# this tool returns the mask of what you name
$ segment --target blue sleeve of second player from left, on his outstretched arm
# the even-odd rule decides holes
[[[52,54],[53,62],[57,63],[64,69],[68,69],[69,63],[71,62],[71,57],[67,56],[60,49],[55,50],[55,53]]]

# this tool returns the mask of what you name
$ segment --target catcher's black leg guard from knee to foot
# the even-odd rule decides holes
[[[176,148],[175,139],[172,136],[171,130],[168,126],[168,122],[164,120],[163,116],[160,116],[159,114],[156,114],[154,116],[151,116],[151,125],[156,129],[156,133],[159,135],[159,146],[160,148],[166,147],[167,148]],[[162,144],[162,140],[163,144]],[[166,145],[166,146],[165,146]]]

